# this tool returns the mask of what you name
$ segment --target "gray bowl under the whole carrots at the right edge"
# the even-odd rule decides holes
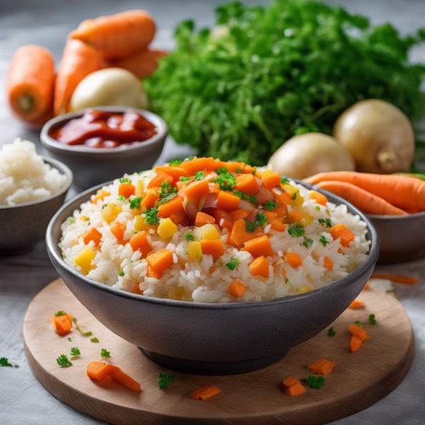
[[[425,212],[368,215],[380,239],[379,263],[401,263],[425,256]]]

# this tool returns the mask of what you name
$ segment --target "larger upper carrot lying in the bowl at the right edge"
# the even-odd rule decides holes
[[[425,181],[415,177],[333,171],[306,179],[309,183],[345,181],[386,200],[403,210],[425,211]]]

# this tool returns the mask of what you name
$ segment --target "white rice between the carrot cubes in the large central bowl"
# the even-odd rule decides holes
[[[132,180],[136,187],[139,181],[143,181],[145,187],[154,176],[154,171],[145,171],[143,174],[125,176]],[[184,290],[183,300],[196,302],[246,302],[272,300],[277,297],[297,295],[329,285],[336,280],[344,278],[367,258],[369,244],[365,238],[367,232],[365,222],[360,217],[351,215],[345,205],[336,206],[327,203],[326,207],[318,205],[310,198],[309,191],[303,186],[290,182],[300,191],[304,198],[302,208],[313,217],[311,225],[305,226],[305,234],[302,237],[291,237],[288,227],[285,232],[277,232],[270,225],[263,226],[263,232],[271,242],[273,256],[267,257],[269,263],[269,276],[252,276],[249,264],[253,256],[248,251],[239,251],[226,243],[229,237],[227,229],[219,230],[224,243],[225,253],[213,263],[212,256],[203,255],[201,261],[189,261],[188,240],[183,238],[189,230],[193,235],[200,237],[199,227],[182,227],[169,241],[162,240],[155,231],[151,230],[148,235],[152,250],[170,249],[173,253],[173,264],[164,271],[162,278],[147,278],[147,261],[142,259],[140,253],[133,252],[130,244],[120,244],[111,233],[107,222],[101,217],[101,208],[105,203],[114,203],[122,208],[116,220],[126,225],[124,239],[132,236],[134,216],[129,208],[128,200],[118,200],[117,179],[110,186],[103,188],[111,193],[96,204],[86,202],[81,205],[81,210],[74,211],[74,219],[67,220],[62,224],[62,239],[60,247],[62,255],[69,265],[85,272],[87,276],[100,283],[105,283],[113,288],[132,291],[137,283],[143,295],[146,297],[169,297],[170,290],[181,287]],[[140,183],[141,184],[141,183]],[[296,207],[292,207],[296,208]],[[349,247],[341,246],[340,239],[333,240],[326,225],[320,224],[318,219],[330,218],[331,225],[343,223],[355,234],[354,240]],[[101,232],[101,244],[94,248],[96,256],[92,261],[91,270],[82,270],[74,257],[86,247],[82,234],[89,227],[96,227]],[[329,244],[323,246],[319,238],[323,236]],[[311,238],[313,243],[306,247],[302,242]],[[94,242],[89,246],[94,247]],[[286,254],[296,252],[302,259],[301,266],[293,268],[287,261]],[[334,262],[332,271],[323,266],[324,256]],[[237,259],[239,265],[234,270],[226,266],[229,261]],[[120,273],[120,271],[122,271]],[[285,274],[283,274],[283,272]],[[123,276],[118,276],[120,273]],[[246,293],[242,297],[233,297],[227,292],[229,285],[235,280],[241,281],[246,287]]]

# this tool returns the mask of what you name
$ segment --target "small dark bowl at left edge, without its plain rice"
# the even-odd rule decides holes
[[[72,185],[72,171],[66,165],[55,159],[42,159],[64,174],[67,182],[50,198],[14,206],[0,205],[0,255],[30,251],[36,242],[44,239],[50,219],[64,203]]]

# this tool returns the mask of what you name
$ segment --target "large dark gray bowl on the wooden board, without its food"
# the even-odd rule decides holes
[[[174,370],[223,375],[278,361],[346,310],[378,259],[379,239],[368,218],[345,200],[322,191],[368,224],[372,242],[368,259],[345,278],[310,293],[261,302],[204,304],[135,295],[96,283],[62,259],[58,246],[62,222],[98,188],[81,193],[52,218],[46,233],[50,259],[68,288],[101,323]]]

